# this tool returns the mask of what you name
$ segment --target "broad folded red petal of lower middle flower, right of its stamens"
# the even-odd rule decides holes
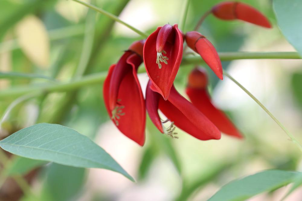
[[[200,140],[220,139],[218,128],[172,86],[168,101],[159,99],[159,109],[175,126]]]

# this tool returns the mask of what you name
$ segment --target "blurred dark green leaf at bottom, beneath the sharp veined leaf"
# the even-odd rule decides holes
[[[53,163],[47,169],[40,200],[77,200],[85,181],[85,168],[75,168]]]

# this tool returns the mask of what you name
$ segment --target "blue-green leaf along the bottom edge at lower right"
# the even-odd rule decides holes
[[[298,172],[266,170],[224,185],[208,201],[241,201],[254,195],[283,187],[293,181]]]

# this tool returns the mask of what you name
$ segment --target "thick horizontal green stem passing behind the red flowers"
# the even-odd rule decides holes
[[[219,53],[222,61],[230,61],[235,59],[264,59],[264,58],[278,58],[278,59],[300,59],[297,52],[221,52]],[[200,64],[202,59],[200,56],[188,56],[182,59],[182,65],[186,64]],[[145,68],[139,68],[139,73],[145,72]],[[45,83],[34,86],[20,86],[11,87],[0,91],[0,99],[5,97],[16,97],[32,92],[66,92],[78,89],[83,86],[102,83],[107,76],[106,72],[91,74],[82,77],[79,80],[72,80],[68,83]]]

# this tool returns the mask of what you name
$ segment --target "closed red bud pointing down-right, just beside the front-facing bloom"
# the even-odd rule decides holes
[[[217,77],[219,77],[220,80],[223,80],[221,61],[212,43],[197,31],[186,33],[185,38],[188,47],[197,52],[214,71]]]

